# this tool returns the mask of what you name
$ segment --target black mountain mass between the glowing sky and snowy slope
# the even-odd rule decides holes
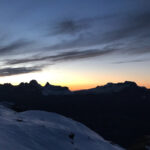
[[[128,148],[150,135],[150,90],[134,82],[75,92],[49,83],[42,87],[35,80],[18,86],[4,84],[0,85],[0,101],[13,102],[10,107],[16,111],[38,109],[73,118]]]

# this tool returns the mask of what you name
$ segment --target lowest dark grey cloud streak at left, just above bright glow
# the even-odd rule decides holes
[[[0,77],[12,76],[18,74],[26,74],[31,72],[41,71],[40,67],[18,67],[18,68],[3,68],[0,69]]]

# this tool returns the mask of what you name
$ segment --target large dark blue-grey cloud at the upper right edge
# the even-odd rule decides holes
[[[122,23],[117,29],[104,34],[104,42],[113,42],[130,37],[138,38],[141,35],[144,37],[150,34],[150,12],[122,16],[120,19]]]

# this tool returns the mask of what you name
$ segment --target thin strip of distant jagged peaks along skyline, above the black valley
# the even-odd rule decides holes
[[[95,88],[89,88],[89,89],[82,89],[82,90],[76,90],[71,91],[66,86],[56,86],[52,85],[49,82],[47,82],[44,86],[40,85],[36,80],[31,80],[29,83],[27,82],[21,82],[18,85],[12,85],[11,83],[4,83],[0,84],[0,88],[35,88],[38,90],[42,90],[41,92],[43,95],[67,95],[67,94],[101,94],[101,93],[108,93],[108,92],[119,92],[121,90],[124,90],[126,88],[141,88],[145,90],[149,90],[148,88],[144,86],[138,86],[136,82],[133,81],[125,81],[125,82],[118,82],[118,83],[107,83],[102,86],[96,86]]]

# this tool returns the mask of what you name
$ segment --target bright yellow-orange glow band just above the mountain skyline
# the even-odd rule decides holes
[[[39,84],[44,86],[46,82],[49,82],[52,85],[66,86],[71,91],[83,90],[95,88],[97,86],[102,86],[108,82],[118,83],[124,81],[133,81],[136,82],[139,86],[144,86],[150,88],[149,78],[142,78],[143,80],[139,81],[139,78],[125,75],[116,75],[116,74],[86,74],[86,73],[76,73],[70,71],[56,71],[51,70],[50,72],[40,72],[32,74],[24,74],[18,76],[9,76],[0,78],[0,84],[11,83],[13,85],[18,85],[20,82],[30,82],[31,80],[37,80]]]

